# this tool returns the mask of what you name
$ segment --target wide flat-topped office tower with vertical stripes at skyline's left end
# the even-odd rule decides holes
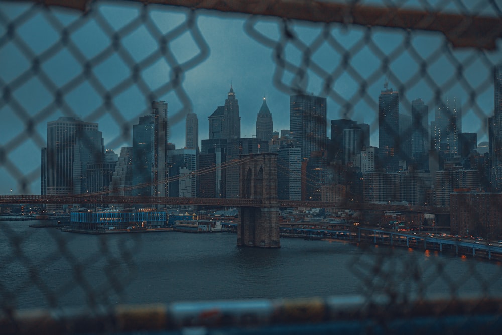
[[[87,163],[102,161],[103,138],[98,124],[71,117],[60,117],[47,123],[47,147],[42,148],[44,181],[41,190],[47,195],[67,195],[85,192]],[[77,161],[75,166],[75,160]]]

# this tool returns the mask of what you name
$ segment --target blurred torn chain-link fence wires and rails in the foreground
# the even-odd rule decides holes
[[[7,2],[9,3],[9,2]],[[22,58],[27,59],[29,66],[14,78],[2,79],[0,87],[3,89],[1,107],[8,106],[12,113],[23,123],[23,129],[5,143],[0,143],[0,168],[18,182],[22,191],[28,192],[30,185],[40,177],[36,172],[24,173],[16,165],[11,155],[27,142],[34,143],[38,148],[45,146],[45,139],[36,130],[47,119],[55,117],[54,110],[68,117],[78,117],[65,98],[83,83],[90,85],[98,92],[98,105],[87,115],[87,119],[95,121],[106,117],[110,123],[115,124],[117,132],[110,140],[111,145],[120,145],[128,142],[131,135],[130,123],[138,115],[124,116],[120,108],[115,105],[115,98],[134,86],[146,101],[154,101],[166,94],[174,94],[179,102],[179,109],[170,116],[171,128],[185,119],[186,113],[193,106],[193,100],[184,86],[187,72],[201,65],[210,53],[210,47],[204,39],[204,32],[199,30],[197,15],[199,13],[214,15],[226,12],[226,16],[234,17],[238,14],[246,15],[242,29],[246,34],[270,49],[273,54],[275,72],[273,84],[285,94],[305,91],[308,80],[306,73],[315,74],[320,78],[321,93],[328,96],[340,107],[344,117],[350,117],[355,106],[364,101],[376,110],[374,96],[368,92],[372,85],[380,84],[383,77],[399,88],[400,94],[406,95],[415,85],[424,85],[429,88],[428,102],[439,105],[443,93],[449,92],[454,85],[462,86],[465,96],[462,108],[468,110],[475,120],[479,121],[478,129],[486,132],[484,120],[491,115],[493,108],[483,105],[483,95],[491,93],[493,73],[497,63],[502,62],[497,52],[502,37],[502,12],[500,5],[495,0],[468,2],[462,0],[433,2],[383,0],[381,2],[364,1],[300,1],[300,0],[272,0],[272,1],[195,1],[195,0],[158,0],[137,1],[133,6],[138,8],[138,16],[126,25],[115,29],[107,22],[107,18],[96,10],[100,2],[79,0],[41,0],[32,2],[33,6],[11,21],[5,14],[0,14],[0,22],[4,28],[4,36],[0,38],[0,48],[10,43],[20,50]],[[114,4],[130,6],[130,2],[114,2]],[[439,4],[436,4],[439,3]],[[186,20],[179,26],[167,32],[161,32],[152,23],[149,17],[149,6],[160,6],[168,9],[179,7],[190,9],[187,11]],[[142,7],[141,7],[142,6]],[[176,6],[176,7],[173,7]],[[63,25],[55,19],[52,12],[54,8],[64,7],[79,10],[80,19],[69,25]],[[213,11],[205,11],[213,10]],[[29,21],[39,12],[44,13],[44,18],[55,31],[57,41],[49,48],[35,52],[18,35],[17,29]],[[280,36],[274,39],[264,35],[258,23],[265,17],[279,18],[281,27]],[[99,53],[88,56],[71,39],[72,34],[87,24],[87,19],[92,18],[97,23],[100,33],[109,39],[109,44]],[[296,20],[320,23],[321,33],[308,43],[302,41],[293,33]],[[350,47],[345,47],[331,35],[331,24],[337,24],[340,29],[359,29],[360,39],[353,42]],[[373,41],[373,34],[379,29],[395,29],[403,34],[402,43],[395,49],[385,52]],[[123,41],[138,29],[147,32],[155,41],[156,51],[137,61],[127,51],[124,51]],[[376,31],[376,32],[375,32]],[[430,50],[427,56],[422,56],[411,40],[417,31],[434,32],[444,35],[444,42],[437,49]],[[179,61],[171,52],[169,43],[176,40],[184,33],[188,33],[196,45],[197,53],[186,61]],[[301,54],[300,60],[295,63],[290,61],[285,50],[294,45]],[[321,48],[328,45],[340,59],[333,70],[320,66],[313,55]],[[379,61],[374,72],[361,75],[351,64],[351,59],[358,57],[361,49],[367,48],[373,57]],[[459,48],[465,53],[457,57],[453,50]],[[77,73],[64,85],[58,86],[44,71],[42,65],[64,50],[81,65],[82,71]],[[498,50],[499,51],[499,50]],[[412,74],[408,79],[401,79],[392,71],[392,63],[398,61],[404,54],[414,64]],[[99,66],[108,66],[106,61],[118,55],[124,64],[126,75],[114,85],[106,85],[105,80],[98,78],[93,72]],[[498,58],[497,58],[498,57]],[[142,77],[142,71],[155,64],[159,59],[166,61],[170,68],[169,77],[163,84],[152,88]],[[432,67],[438,59],[446,59],[452,73],[441,83],[432,77]],[[105,65],[103,65],[105,64]],[[472,71],[472,64],[482,66],[482,71],[488,73],[476,83],[466,79],[466,73]],[[6,64],[2,64],[6,66]],[[335,90],[336,81],[348,75],[355,82],[358,90],[353,95],[343,95]],[[41,85],[51,96],[47,105],[35,113],[28,110],[17,100],[14,92],[23,87],[27,82],[37,78]],[[491,99],[491,97],[490,97]],[[410,109],[409,100],[404,99],[405,108]],[[491,100],[490,100],[491,101]],[[489,109],[489,110],[487,110]],[[377,127],[376,121],[372,124],[373,132]],[[484,128],[483,128],[484,127]],[[108,263],[126,264],[124,273],[117,276],[107,273],[109,281],[103,287],[94,287],[86,280],[79,278],[85,262],[79,263],[71,255],[63,256],[66,261],[73,264],[74,273],[70,285],[77,285],[87,293],[88,306],[76,309],[61,308],[54,295],[57,290],[51,290],[44,282],[43,271],[51,260],[42,260],[36,264],[30,260],[30,255],[24,253],[23,245],[29,243],[27,237],[17,234],[10,228],[2,228],[0,232],[6,237],[6,255],[2,257],[0,274],[4,276],[9,265],[19,262],[26,268],[26,278],[30,284],[37,286],[47,298],[50,308],[43,310],[20,310],[16,306],[16,291],[11,291],[0,281],[0,333],[6,334],[66,334],[66,333],[197,333],[197,334],[241,334],[241,333],[346,333],[346,334],[444,334],[444,333],[498,333],[502,329],[502,299],[490,296],[491,279],[483,279],[483,273],[466,274],[479,280],[482,286],[481,293],[472,297],[460,296],[457,283],[448,277],[440,263],[435,264],[437,277],[442,277],[450,284],[451,296],[432,298],[430,296],[397,296],[392,284],[387,284],[381,291],[372,287],[361,296],[350,297],[322,297],[312,299],[279,299],[279,300],[245,300],[245,301],[213,301],[195,303],[166,303],[160,305],[119,305],[114,306],[105,298],[100,298],[106,292],[113,290],[117,295],[124,294],[126,289],[121,286],[123,278],[129,278],[135,270],[134,249],[138,246],[121,246],[119,257],[114,257],[109,251],[109,245],[102,242],[99,252],[90,260],[104,260]],[[59,237],[51,241],[56,245],[56,250],[51,257],[61,257],[68,249],[68,242]],[[369,253],[370,251],[368,251]],[[380,269],[376,268],[385,262],[385,253],[374,253],[373,264],[367,266],[366,272],[359,273],[363,281],[372,283]],[[107,263],[107,264],[108,264]],[[338,265],[331,265],[338,266]],[[354,259],[353,269],[357,272],[358,266],[365,266],[359,258]],[[106,268],[106,265],[103,269]],[[400,269],[401,270],[401,269]],[[103,270],[105,271],[105,270]],[[397,271],[397,270],[396,270]],[[404,271],[406,272],[406,271]],[[399,281],[399,276],[394,280]],[[412,274],[405,274],[404,276]],[[496,277],[502,276],[498,271]],[[5,278],[8,274],[5,274]],[[384,280],[389,280],[385,277]],[[2,277],[0,277],[1,279]],[[494,277],[490,277],[494,278]],[[415,278],[421,286],[427,286],[420,275]],[[368,284],[368,285],[369,285]],[[484,286],[483,286],[484,285]],[[385,285],[384,285],[385,286]],[[21,286],[23,287],[23,286]],[[387,290],[386,290],[387,289]],[[70,288],[63,288],[63,291]]]

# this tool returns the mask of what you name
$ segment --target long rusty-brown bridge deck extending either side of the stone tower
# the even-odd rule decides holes
[[[113,203],[113,204],[152,204],[152,205],[198,205],[226,207],[264,207],[259,199],[222,199],[222,198],[182,198],[156,196],[117,196],[107,194],[78,195],[2,195],[2,204],[80,204]],[[290,201],[277,200],[281,208],[340,208],[354,210],[393,210],[402,213],[449,214],[449,207],[405,206],[379,203],[362,203],[357,201],[323,202],[323,201]]]

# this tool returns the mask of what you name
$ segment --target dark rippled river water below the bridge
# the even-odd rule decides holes
[[[232,233],[87,235],[0,222],[0,300],[14,308],[393,292],[500,295],[502,266],[434,251]]]

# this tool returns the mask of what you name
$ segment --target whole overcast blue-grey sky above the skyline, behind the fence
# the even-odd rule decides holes
[[[410,40],[412,49],[400,52],[406,38],[400,30],[375,28],[371,38],[364,40],[367,32],[364,27],[346,29],[331,25],[325,29],[322,24],[299,22],[289,24],[294,38],[286,40],[281,20],[256,18],[253,25],[256,33],[278,42],[264,45],[255,35],[250,37],[245,32],[247,16],[198,11],[195,25],[203,36],[202,50],[208,53],[197,58],[201,49],[190,30],[176,35],[168,44],[170,53],[177,63],[195,57],[196,66],[182,74],[180,85],[173,91],[168,86],[172,59],[160,56],[149,61],[151,55],[158,53],[159,45],[145,25],[124,33],[119,40],[122,53],[135,62],[147,64],[140,69],[140,82],[131,81],[131,66],[123,57],[107,51],[113,39],[103,32],[103,22],[104,29],[108,26],[112,32],[120,31],[138,20],[142,6],[100,5],[93,12],[99,13],[97,19],[92,13],[82,17],[78,11],[61,9],[52,9],[54,14],[48,15],[38,9],[29,10],[30,6],[0,3],[0,36],[4,36],[0,40],[0,86],[4,92],[0,101],[0,146],[4,146],[7,158],[2,161],[0,157],[0,194],[9,194],[11,188],[13,194],[23,192],[23,180],[26,180],[25,193],[40,194],[40,149],[45,146],[48,121],[61,115],[77,115],[85,121],[98,122],[105,148],[119,153],[120,147],[132,143],[131,133],[122,131],[124,126],[131,129],[139,116],[148,113],[150,100],[155,97],[168,103],[170,142],[182,148],[186,110],[193,108],[198,115],[199,140],[206,139],[207,117],[216,107],[224,105],[231,85],[239,100],[242,137],[255,135],[256,115],[263,97],[272,113],[274,130],[289,129],[289,95],[296,89],[327,97],[327,136],[330,137],[330,120],[348,117],[369,123],[371,144],[378,146],[378,95],[388,79],[390,88],[406,87],[405,92],[400,90],[400,113],[410,114],[411,101],[422,98],[429,105],[429,121],[433,120],[437,107],[435,86],[446,85],[441,94],[444,99],[455,96],[462,105],[462,131],[476,132],[478,142],[487,140],[486,118],[493,113],[490,64],[502,62],[499,51],[450,51],[444,47],[442,35],[414,33]],[[162,33],[176,31],[190,17],[187,10],[166,6],[150,6],[147,14],[147,20]],[[14,41],[6,37],[9,22],[17,24]],[[68,32],[69,46],[57,48],[51,57],[45,57],[44,52],[61,38],[58,27],[72,25],[76,28]],[[329,33],[330,38],[322,37],[323,33]],[[306,45],[312,46],[312,52],[308,71],[300,79],[303,72],[295,69],[306,69],[302,63]],[[348,68],[342,65],[344,49],[351,49]],[[277,65],[278,51],[292,71]],[[75,79],[82,77],[84,68],[75,52],[94,64],[86,80]],[[26,74],[32,67],[32,58],[41,55],[44,57],[39,58],[39,70]],[[391,55],[388,71],[382,69],[381,58],[385,55]],[[419,74],[417,55],[428,60],[425,78]],[[455,77],[457,60],[464,62],[465,80]],[[326,90],[329,74],[333,80],[328,80],[332,85]],[[360,80],[368,80],[365,95],[360,94]],[[72,82],[77,84],[68,86]],[[5,93],[6,86],[9,95]],[[476,90],[474,104],[466,93],[470,92],[469,86]],[[54,104],[58,87],[65,87],[61,105]],[[119,92],[113,94],[109,109],[102,108],[103,91]],[[188,99],[184,99],[185,94]],[[27,132],[30,118],[34,128],[28,127],[31,131]]]

